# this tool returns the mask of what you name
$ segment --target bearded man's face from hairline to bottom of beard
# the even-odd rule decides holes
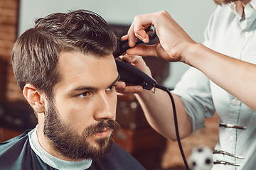
[[[44,134],[52,147],[71,159],[98,159],[110,151],[115,122],[118,80],[114,57],[62,52],[61,81],[48,100]]]

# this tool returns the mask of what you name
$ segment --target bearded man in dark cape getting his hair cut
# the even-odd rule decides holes
[[[53,13],[16,41],[18,85],[38,118],[0,145],[0,169],[144,169],[113,143],[116,37],[91,11]]]

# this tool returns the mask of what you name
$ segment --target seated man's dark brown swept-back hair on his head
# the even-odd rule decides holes
[[[61,79],[57,68],[60,52],[101,57],[111,55],[117,46],[110,26],[92,11],[53,13],[35,23],[16,40],[12,51],[14,75],[22,90],[29,83],[46,95],[52,94],[53,86]]]

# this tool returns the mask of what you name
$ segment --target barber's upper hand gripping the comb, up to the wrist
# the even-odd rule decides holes
[[[134,47],[136,38],[149,42],[149,36],[143,29],[149,25],[156,28],[159,42],[156,45],[137,45]],[[169,62],[186,62],[186,50],[190,45],[196,43],[166,11],[136,16],[128,34],[122,37],[122,40],[127,39],[129,46],[134,47],[127,50],[127,54],[161,57]]]

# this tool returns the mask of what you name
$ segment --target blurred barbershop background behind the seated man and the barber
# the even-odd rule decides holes
[[[213,0],[0,0],[0,142],[36,125],[33,111],[16,85],[11,69],[11,49],[16,38],[33,27],[38,17],[79,8],[100,14],[119,36],[127,33],[134,16],[165,10],[193,40],[203,42],[204,29],[216,5]],[[145,60],[154,79],[169,89],[174,89],[188,69],[179,62],[169,63],[154,57]],[[177,143],[164,139],[149,127],[134,96],[119,96],[117,121],[122,128],[115,132],[115,141],[146,169],[184,169]],[[214,147],[217,140],[218,118],[214,115],[206,120],[206,128],[182,140],[186,157],[193,147]]]

